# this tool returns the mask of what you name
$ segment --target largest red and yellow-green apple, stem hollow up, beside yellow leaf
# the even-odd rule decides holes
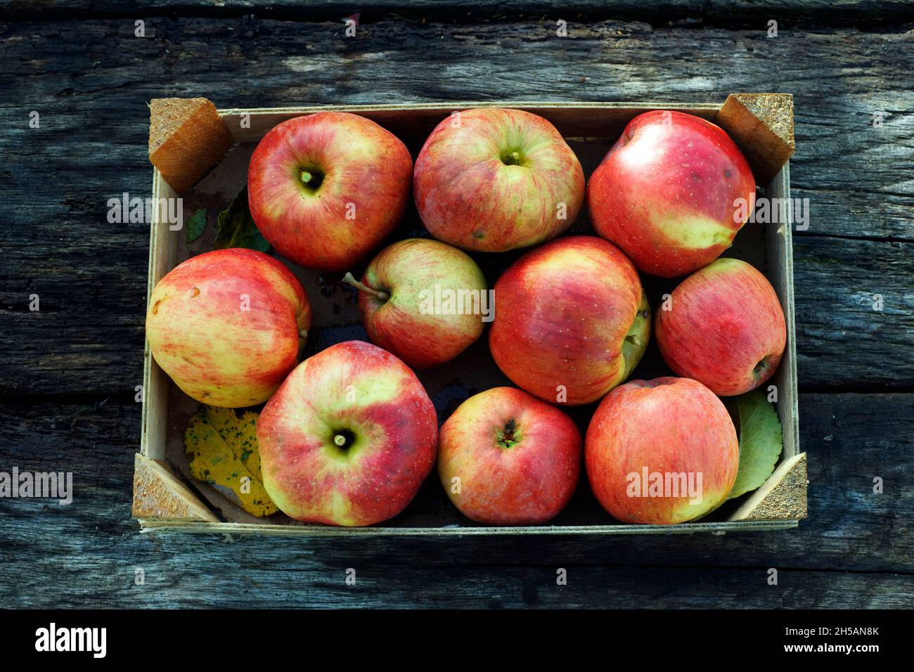
[[[308,357],[257,421],[263,486],[283,513],[373,525],[407,507],[438,448],[416,374],[389,352],[346,341]]]

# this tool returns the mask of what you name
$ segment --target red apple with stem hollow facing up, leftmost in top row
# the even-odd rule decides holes
[[[411,177],[406,145],[370,119],[295,117],[264,135],[250,157],[250,214],[283,257],[345,271],[397,226]]]

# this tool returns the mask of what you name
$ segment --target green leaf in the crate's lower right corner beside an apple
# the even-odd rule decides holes
[[[739,472],[730,499],[767,481],[784,445],[781,420],[761,389],[740,395],[734,403],[739,414]]]

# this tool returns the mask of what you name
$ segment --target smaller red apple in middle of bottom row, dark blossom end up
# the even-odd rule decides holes
[[[538,525],[574,494],[581,448],[578,427],[564,412],[522,389],[487,389],[441,425],[438,475],[464,516]]]

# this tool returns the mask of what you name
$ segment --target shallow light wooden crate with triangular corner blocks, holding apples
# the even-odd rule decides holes
[[[235,149],[219,166],[228,164],[235,156],[236,163],[244,157],[241,147],[252,149],[260,138],[277,123],[295,116],[337,110],[355,112],[380,123],[397,134],[409,146],[415,158],[421,142],[442,119],[458,110],[484,106],[512,107],[537,113],[555,124],[558,131],[575,149],[584,166],[585,175],[590,176],[600,158],[612,142],[622,133],[625,124],[634,116],[649,110],[678,110],[696,114],[723,127],[739,144],[752,165],[757,181],[765,187],[765,197],[790,199],[790,168],[787,160],[792,154],[793,122],[792,97],[787,94],[734,94],[723,104],[667,104],[667,103],[613,103],[613,102],[467,102],[467,103],[422,103],[401,105],[336,105],[303,106],[275,109],[216,110],[204,99],[192,101],[168,99],[154,101],[152,123],[161,139],[163,133],[171,139],[168,145],[168,162],[163,172],[154,167],[153,197],[175,198],[178,192],[169,184],[186,189],[204,176],[219,162],[229,145]],[[182,115],[182,107],[192,113]],[[165,113],[170,110],[172,113]],[[178,113],[174,113],[177,110]],[[163,127],[171,126],[171,128]],[[189,140],[188,140],[189,139]],[[174,141],[174,142],[173,142]],[[165,146],[164,144],[162,146]],[[156,144],[156,151],[161,149]],[[151,145],[150,153],[153,155]],[[154,156],[154,160],[155,156]],[[246,164],[245,164],[246,165]],[[218,170],[218,168],[217,168]],[[214,171],[216,172],[216,171]],[[236,171],[237,172],[237,171]],[[243,177],[238,188],[243,187]],[[763,181],[764,180],[764,181]],[[201,183],[202,184],[202,183]],[[228,204],[228,201],[225,201]],[[412,213],[415,215],[415,213]],[[143,531],[163,532],[209,532],[221,534],[257,533],[280,535],[492,535],[492,534],[672,534],[710,531],[724,533],[736,530],[761,530],[793,528],[799,519],[806,516],[806,463],[805,453],[800,452],[797,424],[797,375],[796,350],[793,318],[793,272],[791,212],[788,209],[783,223],[760,225],[748,223],[738,234],[736,243],[728,256],[751,261],[766,273],[781,299],[781,307],[787,318],[787,347],[771,383],[777,386],[779,400],[776,404],[784,433],[783,453],[768,482],[757,491],[734,500],[726,510],[725,519],[703,520],[675,526],[622,525],[616,524],[603,512],[590,495],[586,477],[582,474],[579,493],[566,511],[552,524],[526,527],[485,527],[473,524],[463,518],[452,507],[443,488],[437,482],[435,473],[430,474],[425,485],[406,511],[399,517],[371,528],[334,528],[327,526],[303,525],[290,519],[279,522],[255,522],[239,507],[233,511],[222,507],[223,522],[212,509],[200,499],[218,501],[218,494],[209,486],[191,482],[178,468],[177,473],[169,463],[174,464],[174,450],[169,454],[167,447],[175,444],[175,432],[183,428],[187,411],[181,416],[178,406],[188,406],[192,400],[186,398],[168,379],[152,357],[146,343],[143,370],[143,430],[141,452],[136,455],[137,475],[134,482],[133,516],[138,518]],[[586,217],[586,214],[582,214]],[[585,223],[584,226],[587,224]],[[577,224],[575,225],[578,226]],[[415,226],[411,229],[415,232]],[[573,229],[575,230],[575,229]],[[575,231],[578,232],[578,231]],[[586,231],[583,231],[586,232]],[[409,235],[409,231],[407,232]],[[162,221],[154,212],[151,224],[149,251],[148,296],[155,283],[169,272],[186,251],[182,251],[184,230],[172,231],[167,221]],[[513,258],[511,258],[513,261]],[[293,267],[293,271],[296,269]],[[301,269],[298,269],[301,277]],[[662,281],[643,276],[645,291],[649,298],[655,292],[672,290],[677,281]],[[308,289],[308,278],[303,283]],[[310,280],[314,281],[314,277]],[[666,284],[664,284],[666,283]],[[652,286],[653,285],[653,286]],[[491,285],[490,285],[491,286]],[[314,302],[314,288],[309,289]],[[653,296],[652,296],[653,294]],[[351,302],[355,304],[355,301]],[[315,321],[314,331],[321,324]],[[351,332],[351,327],[350,327]],[[314,336],[309,336],[309,341]],[[346,340],[346,337],[339,340]],[[331,339],[333,340],[333,339]],[[480,339],[485,341],[485,338]],[[324,346],[327,344],[324,344]],[[487,348],[483,345],[482,348]],[[472,350],[473,348],[471,348]],[[469,351],[468,351],[469,352]],[[462,355],[461,357],[464,357]],[[647,355],[645,354],[645,359]],[[460,359],[460,357],[458,358]],[[473,360],[471,359],[471,362]],[[445,365],[447,366],[447,365]],[[466,367],[464,363],[461,365]],[[494,368],[494,364],[492,364]],[[652,371],[643,371],[644,362],[635,370],[634,378],[653,378]],[[648,369],[650,367],[648,366]],[[446,377],[447,373],[420,373],[434,379]],[[453,369],[452,369],[453,370]],[[663,375],[659,370],[655,375]],[[500,372],[498,372],[500,375]],[[473,372],[468,374],[473,377]],[[484,379],[471,385],[474,391],[505,384],[505,380],[489,382]],[[429,387],[429,379],[423,379]],[[477,389],[478,388],[478,389]],[[434,397],[433,397],[434,399]],[[436,400],[437,401],[437,400]],[[455,404],[452,404],[452,406]],[[441,420],[447,413],[436,402]],[[452,410],[452,408],[450,409]],[[571,411],[571,410],[569,410]],[[573,412],[573,411],[572,411]],[[578,418],[579,424],[581,423]],[[141,478],[140,475],[143,477]],[[434,497],[437,492],[439,498]],[[586,492],[581,493],[582,490]],[[195,492],[196,491],[196,492]],[[170,496],[178,493],[180,496]],[[199,493],[206,493],[201,497]],[[423,495],[425,493],[425,495]],[[590,497],[590,501],[588,500]],[[582,499],[579,506],[576,500]],[[443,500],[443,504],[442,501]],[[188,505],[188,501],[191,502]],[[226,500],[228,501],[228,500]],[[573,506],[574,505],[574,506]],[[718,509],[718,511],[724,509]],[[717,512],[716,512],[717,514]],[[277,516],[282,516],[278,514]]]

